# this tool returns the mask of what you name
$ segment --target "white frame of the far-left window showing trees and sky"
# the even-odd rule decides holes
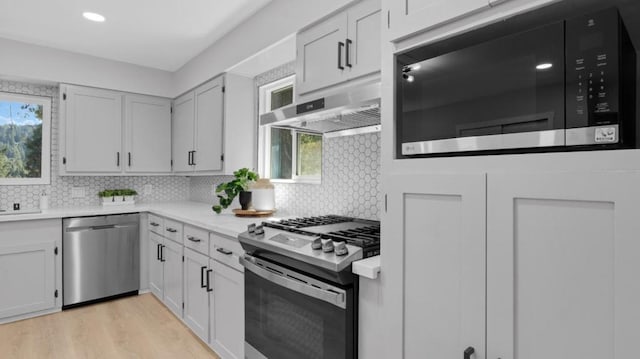
[[[0,178],[0,185],[48,185],[51,184],[51,97],[0,92],[0,100],[30,103],[42,106],[42,153],[38,178]]]

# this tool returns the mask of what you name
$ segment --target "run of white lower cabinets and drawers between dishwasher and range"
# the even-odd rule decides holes
[[[162,223],[164,231],[158,230]],[[154,231],[172,236],[179,233],[182,242]],[[221,358],[244,358],[244,268],[238,262],[243,253],[240,243],[152,214],[149,243],[151,291]]]

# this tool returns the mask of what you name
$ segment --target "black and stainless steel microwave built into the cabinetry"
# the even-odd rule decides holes
[[[397,54],[397,157],[635,147],[632,39],[618,7],[588,10],[565,2]]]

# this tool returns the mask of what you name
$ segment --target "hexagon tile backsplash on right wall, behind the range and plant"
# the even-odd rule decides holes
[[[322,184],[275,183],[276,207],[299,216],[338,214],[379,219],[380,133],[324,140]],[[231,177],[192,177],[190,199],[217,202],[212,186]]]

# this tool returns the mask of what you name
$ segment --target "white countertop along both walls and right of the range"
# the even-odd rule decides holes
[[[52,208],[43,210],[40,213],[3,214],[0,215],[0,222],[99,216],[132,212],[150,212],[233,238],[236,238],[238,234],[246,231],[247,225],[263,220],[263,218],[236,217],[231,211],[216,214],[211,209],[211,204],[184,201],[142,203],[128,206]],[[285,216],[285,214],[280,214],[280,216]],[[269,218],[279,218],[280,216],[276,213],[275,216]],[[353,263],[353,273],[360,276],[376,279],[379,272],[380,256],[366,258]]]

